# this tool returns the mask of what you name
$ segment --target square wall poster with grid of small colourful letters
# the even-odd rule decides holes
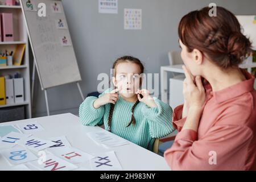
[[[125,9],[125,30],[142,29],[142,9]]]

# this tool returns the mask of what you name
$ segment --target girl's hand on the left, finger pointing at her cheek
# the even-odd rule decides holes
[[[98,98],[96,101],[93,102],[93,107],[95,109],[98,109],[101,106],[108,104],[108,103],[115,104],[115,102],[118,101],[118,93],[117,92],[119,92],[120,90],[121,90],[121,88],[114,89],[110,93],[104,94],[104,96]]]

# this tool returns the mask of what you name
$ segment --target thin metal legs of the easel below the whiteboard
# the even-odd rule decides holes
[[[34,86],[35,86],[35,70],[36,70],[36,66],[35,66],[35,60],[33,61],[33,71],[32,71],[32,88],[31,88],[31,105],[33,105],[33,98],[34,98]],[[84,95],[82,94],[82,90],[80,87],[79,82],[76,82],[77,84],[77,88],[79,89],[79,93],[82,97],[82,101],[84,101]],[[49,116],[49,104],[48,104],[48,97],[47,97],[47,89],[44,89],[42,87],[42,90],[44,91],[44,97],[46,98],[46,109],[47,109],[47,115]]]

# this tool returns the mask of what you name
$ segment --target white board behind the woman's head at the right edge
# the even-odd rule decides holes
[[[256,50],[256,15],[237,15],[242,26],[242,33],[253,43],[252,47]]]

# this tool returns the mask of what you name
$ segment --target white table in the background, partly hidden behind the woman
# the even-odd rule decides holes
[[[182,69],[183,65],[184,64],[176,64],[176,65],[169,65],[169,66],[164,66],[160,68],[161,100],[166,104],[168,104],[167,72],[184,74],[184,71]],[[253,63],[251,59],[248,59],[247,61],[245,61],[244,64],[240,64],[239,67],[243,69],[247,69],[247,71],[251,73],[251,68],[255,68],[256,63]]]

